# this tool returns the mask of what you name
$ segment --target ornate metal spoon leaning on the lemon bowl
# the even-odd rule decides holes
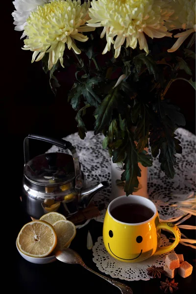
[[[85,263],[83,262],[81,256],[75,252],[74,250],[70,249],[70,248],[64,248],[62,251],[58,250],[55,253],[56,259],[64,262],[64,263],[68,263],[68,264],[78,264],[82,267],[84,267],[86,270],[89,270],[95,274],[97,274],[99,277],[103,278],[104,280],[108,281],[109,283],[111,283],[112,285],[118,287],[121,290],[121,293],[123,294],[133,294],[133,291],[130,287],[124,285],[121,282],[117,282],[113,279],[110,279],[108,277],[103,276],[102,274],[91,270],[89,267],[87,267],[85,265]]]

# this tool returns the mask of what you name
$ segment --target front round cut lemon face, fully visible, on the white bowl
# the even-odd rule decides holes
[[[53,226],[46,221],[30,221],[20,230],[17,237],[19,250],[32,257],[46,257],[56,247],[57,235]]]

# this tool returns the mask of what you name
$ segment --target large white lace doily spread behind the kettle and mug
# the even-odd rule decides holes
[[[183,128],[178,128],[176,135],[183,151],[182,154],[176,154],[174,178],[168,178],[161,171],[158,158],[153,159],[153,166],[148,168],[148,196],[155,203],[160,219],[165,221],[185,215],[179,210],[180,204],[178,207],[171,205],[196,191],[196,136]],[[99,191],[93,198],[94,203],[101,209],[100,216],[95,219],[102,222],[111,194],[111,158],[108,151],[102,148],[103,138],[101,134],[95,136],[93,131],[88,131],[84,140],[79,138],[78,133],[63,138],[76,147],[87,187],[105,180],[110,184],[110,187]],[[52,146],[47,152],[69,151]]]

